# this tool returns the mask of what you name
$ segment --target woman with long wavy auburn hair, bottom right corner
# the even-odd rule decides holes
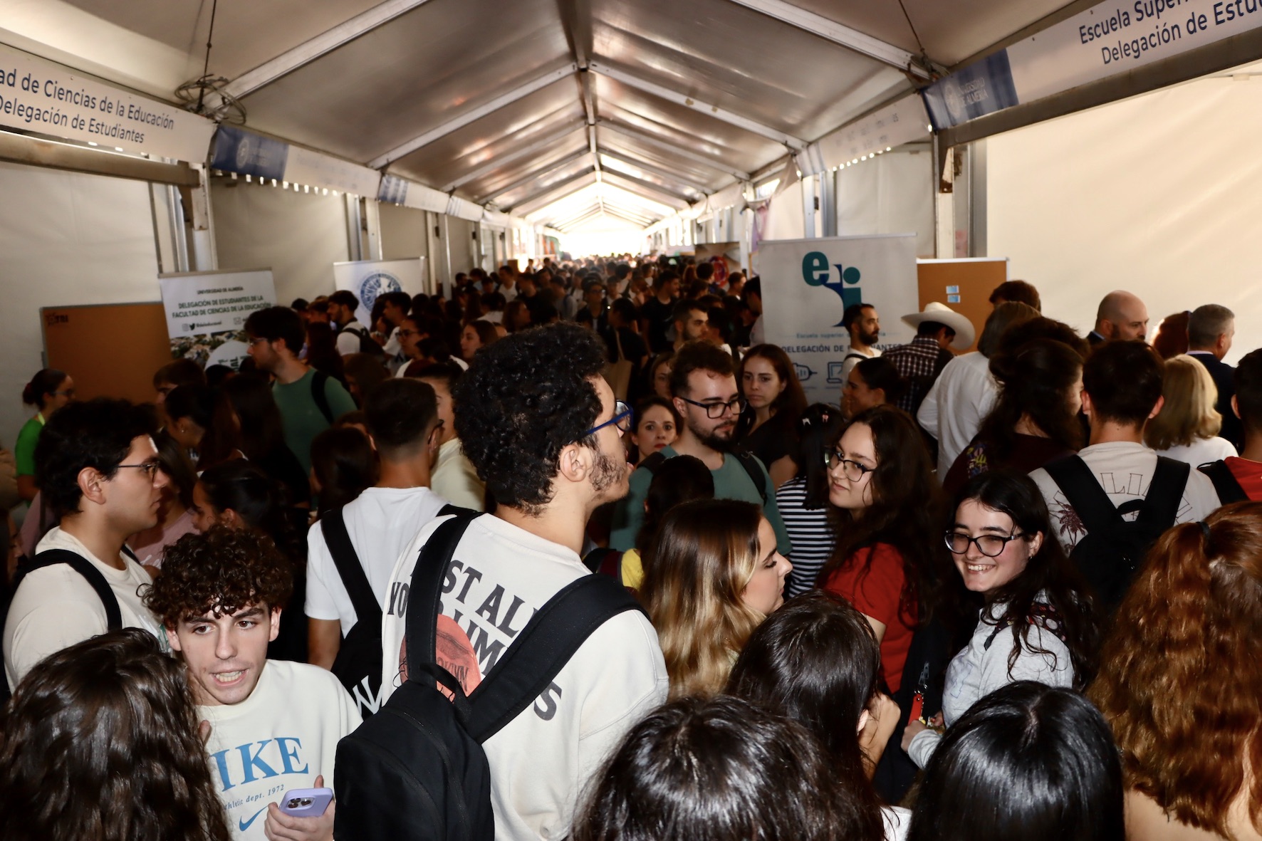
[[[1127,837],[1262,838],[1262,503],[1166,532],[1089,697],[1122,753]]]

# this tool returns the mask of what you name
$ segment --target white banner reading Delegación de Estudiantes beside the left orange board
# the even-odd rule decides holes
[[[202,367],[241,367],[249,350],[245,319],[276,306],[271,269],[160,274],[158,285],[172,359],[192,359]]]

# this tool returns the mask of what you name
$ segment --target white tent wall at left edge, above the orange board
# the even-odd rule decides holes
[[[5,447],[34,412],[21,389],[43,367],[40,307],[159,301],[148,191],[139,181],[0,163]]]

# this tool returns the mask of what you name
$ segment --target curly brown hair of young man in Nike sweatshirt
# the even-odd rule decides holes
[[[226,616],[246,605],[283,607],[293,588],[292,564],[271,538],[254,529],[215,527],[167,547],[162,575],[143,599],[164,625],[174,628],[209,611]]]

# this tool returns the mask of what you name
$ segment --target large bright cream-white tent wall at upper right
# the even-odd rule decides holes
[[[1080,331],[1112,289],[1150,327],[1219,303],[1262,346],[1262,78],[1204,78],[987,140],[987,248]]]

